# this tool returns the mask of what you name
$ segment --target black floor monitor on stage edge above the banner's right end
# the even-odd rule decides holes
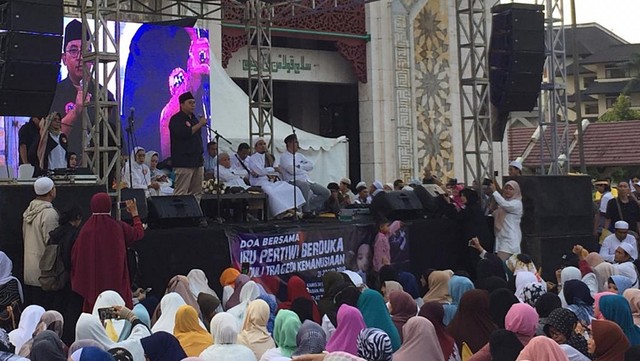
[[[371,201],[371,214],[389,220],[418,218],[424,213],[415,191],[380,192]]]

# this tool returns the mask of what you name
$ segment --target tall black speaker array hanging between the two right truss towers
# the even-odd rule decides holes
[[[544,6],[501,4],[493,13],[489,45],[489,84],[494,141],[502,141],[511,111],[537,105],[545,54]]]

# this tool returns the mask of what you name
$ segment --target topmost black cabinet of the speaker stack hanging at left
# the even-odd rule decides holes
[[[62,5],[63,0],[0,1],[0,29],[61,35]]]

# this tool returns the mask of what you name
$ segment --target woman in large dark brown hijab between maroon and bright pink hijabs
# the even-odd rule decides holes
[[[462,295],[458,312],[447,327],[458,349],[462,350],[462,345],[466,344],[472,353],[489,342],[495,329],[489,313],[489,294],[483,290],[471,290]]]

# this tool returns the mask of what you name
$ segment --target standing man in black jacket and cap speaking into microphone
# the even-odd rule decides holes
[[[201,132],[207,119],[202,116],[196,119],[193,114],[196,101],[191,92],[181,94],[178,99],[180,111],[169,120],[171,163],[176,172],[173,194],[193,194],[199,202],[204,176]]]

